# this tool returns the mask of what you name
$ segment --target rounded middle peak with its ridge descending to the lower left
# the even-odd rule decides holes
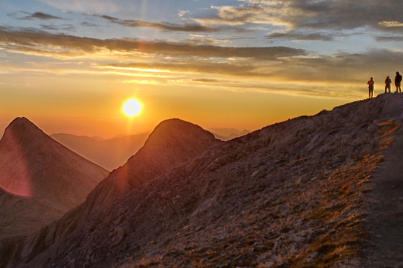
[[[197,125],[179,119],[161,122],[144,147],[125,165],[111,172],[99,183],[85,203],[29,237],[0,241],[0,267],[15,267],[16,263],[29,262],[43,250],[87,225],[88,221],[97,218],[103,211],[115,209],[116,202],[132,189],[165,175],[171,169],[219,144],[221,142],[212,133]],[[123,235],[122,232],[124,231],[117,230],[120,236]],[[48,250],[51,251],[52,248]]]

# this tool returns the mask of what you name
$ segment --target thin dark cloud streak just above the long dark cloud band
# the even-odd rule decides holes
[[[160,30],[165,31],[182,31],[182,32],[216,32],[217,28],[206,27],[198,24],[173,24],[173,23],[153,23],[141,20],[121,20],[118,18],[106,16],[106,15],[97,15],[92,13],[86,13],[88,16],[102,18],[110,23],[126,26],[126,27],[151,27],[158,28]]]

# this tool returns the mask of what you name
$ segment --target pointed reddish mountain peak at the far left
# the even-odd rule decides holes
[[[60,218],[107,175],[16,118],[0,140],[0,237],[27,235]]]

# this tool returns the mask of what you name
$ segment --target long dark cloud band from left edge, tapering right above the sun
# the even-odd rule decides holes
[[[1,47],[14,49],[35,49],[43,47],[59,47],[63,50],[73,51],[75,55],[97,53],[109,50],[117,52],[142,52],[167,56],[196,56],[196,57],[219,57],[219,58],[252,58],[257,60],[276,59],[305,55],[303,49],[295,49],[284,46],[273,47],[221,47],[214,45],[194,45],[188,43],[175,43],[164,41],[143,41],[136,39],[95,39],[77,37],[65,34],[51,34],[34,29],[14,30],[0,28]],[[46,51],[47,53],[48,51]],[[57,51],[55,51],[57,52]]]

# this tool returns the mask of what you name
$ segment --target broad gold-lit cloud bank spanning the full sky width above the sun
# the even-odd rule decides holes
[[[371,76],[376,88],[382,87],[387,75],[402,71],[399,68],[403,62],[402,51],[386,49],[324,56],[282,46],[222,47],[136,39],[102,40],[7,27],[0,27],[0,49],[64,60],[79,58],[92,65],[80,69],[78,74],[127,76],[134,78],[132,83],[167,85],[187,81],[195,86],[209,84],[245,91],[293,89],[302,95],[327,97],[357,95],[357,89],[365,90]],[[58,70],[58,74],[72,72]],[[147,82],[147,78],[154,82]]]

